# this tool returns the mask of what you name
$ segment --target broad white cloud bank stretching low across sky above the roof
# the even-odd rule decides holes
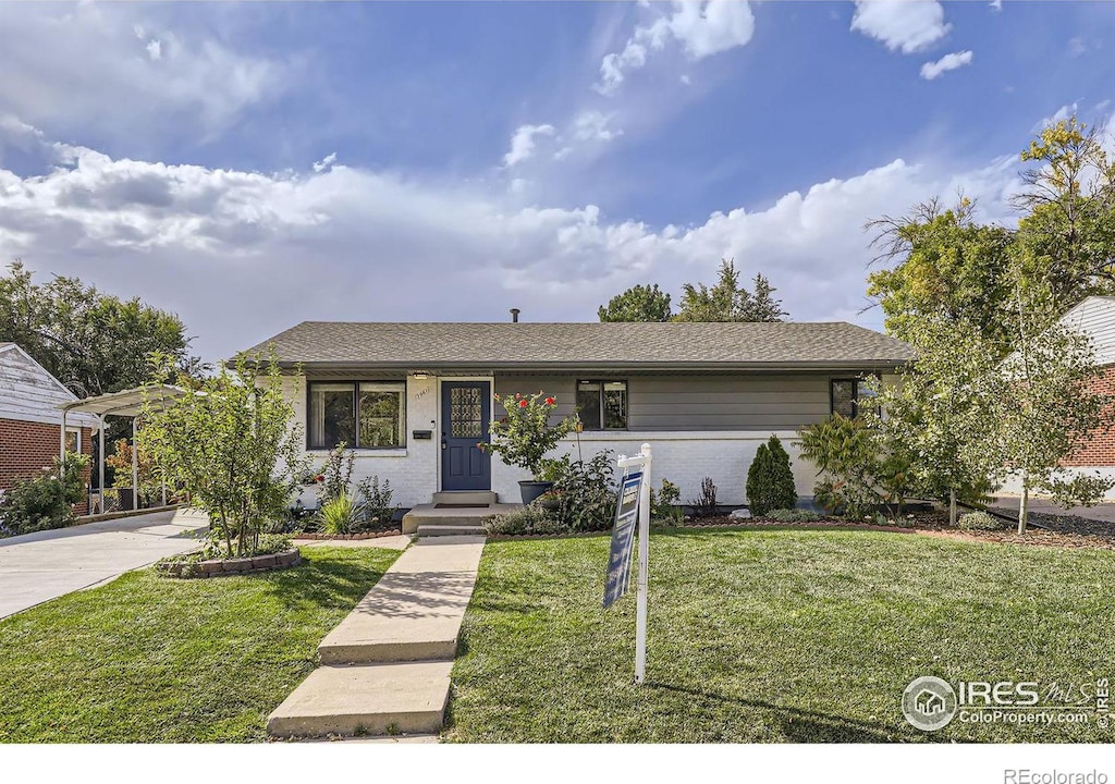
[[[0,123],[4,144],[39,145],[57,165],[0,166],[0,255],[174,310],[210,359],[302,319],[503,320],[516,306],[532,321],[592,320],[633,283],[677,293],[710,280],[721,257],[768,275],[796,320],[856,320],[865,220],[959,187],[1007,219],[1018,167],[1016,155],[957,174],[899,159],[763,210],[656,229],[592,204],[524,205],[485,183],[113,158],[16,122]]]

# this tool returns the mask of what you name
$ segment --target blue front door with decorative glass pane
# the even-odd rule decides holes
[[[488,439],[492,389],[487,381],[442,383],[442,490],[492,490]]]

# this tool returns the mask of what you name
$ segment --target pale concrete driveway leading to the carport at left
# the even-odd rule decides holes
[[[0,618],[193,550],[207,525],[178,509],[0,539]]]

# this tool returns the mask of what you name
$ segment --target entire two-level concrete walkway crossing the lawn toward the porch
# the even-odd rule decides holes
[[[322,666],[268,719],[280,737],[436,733],[483,536],[419,540],[318,646]]]

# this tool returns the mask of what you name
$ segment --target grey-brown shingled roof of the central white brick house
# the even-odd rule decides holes
[[[893,367],[894,338],[827,323],[388,323],[303,321],[273,345],[283,364],[396,369]]]

